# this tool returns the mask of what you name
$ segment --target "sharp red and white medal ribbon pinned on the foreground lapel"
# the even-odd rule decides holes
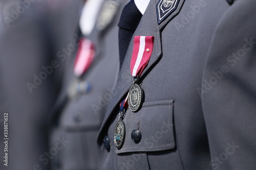
[[[154,36],[135,36],[131,59],[131,74],[140,76],[152,55]]]

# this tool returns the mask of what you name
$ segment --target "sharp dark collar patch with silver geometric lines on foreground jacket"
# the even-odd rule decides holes
[[[160,0],[157,3],[157,20],[160,24],[167,16],[173,13],[179,4],[179,0]]]

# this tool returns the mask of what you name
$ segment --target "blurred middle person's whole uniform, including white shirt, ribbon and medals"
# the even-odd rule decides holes
[[[66,142],[52,157],[51,169],[97,169],[96,137],[119,70],[117,21],[126,3],[89,0],[83,7],[74,36],[79,45],[50,118],[50,149],[59,139]]]

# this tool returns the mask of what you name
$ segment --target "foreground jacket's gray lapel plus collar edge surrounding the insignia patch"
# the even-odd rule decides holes
[[[148,7],[140,20],[139,26],[133,35],[133,38],[130,42],[129,48],[125,55],[123,65],[120,70],[117,84],[113,91],[113,98],[109,102],[108,108],[106,109],[106,114],[99,131],[99,136],[101,136],[101,133],[103,132],[102,129],[107,130],[106,128],[104,128],[104,126],[106,125],[107,122],[110,121],[112,114],[117,114],[116,111],[120,102],[126,97],[127,92],[129,91],[130,87],[133,85],[133,79],[130,72],[130,62],[131,62],[131,57],[133,52],[134,36],[154,36],[155,37],[152,56],[148,61],[146,68],[144,69],[144,71],[140,76],[140,80],[143,81],[143,79],[148,74],[148,72],[150,72],[154,68],[154,66],[158,63],[158,61],[162,57],[161,29],[164,28],[164,26],[170,20],[172,20],[176,15],[178,15],[184,3],[184,0],[179,1],[179,5],[177,9],[172,14],[170,14],[164,21],[162,21],[160,25],[158,24],[157,10],[156,10],[156,5],[158,2],[159,2],[158,0],[153,0],[150,2],[150,4],[148,4]],[[152,17],[154,17],[154,22]],[[139,29],[140,27],[143,27],[143,29]],[[101,141],[101,138],[99,138],[99,136],[98,136],[98,142]]]

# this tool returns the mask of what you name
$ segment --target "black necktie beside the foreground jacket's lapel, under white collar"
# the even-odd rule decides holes
[[[124,8],[118,23],[118,43],[119,43],[119,61],[120,68],[122,66],[124,56],[127,52],[127,48],[132,39],[133,33],[135,32],[137,26],[139,25],[142,14],[138,10],[131,0]]]

